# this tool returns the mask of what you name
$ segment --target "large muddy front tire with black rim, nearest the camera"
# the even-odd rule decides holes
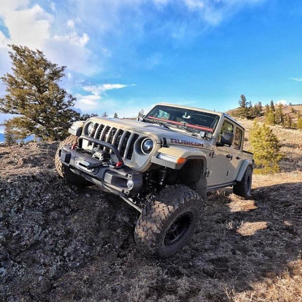
[[[167,187],[140,214],[135,226],[135,242],[145,255],[158,259],[170,257],[192,236],[202,212],[203,200],[194,190],[184,185]],[[186,231],[171,244],[178,223],[183,223]]]

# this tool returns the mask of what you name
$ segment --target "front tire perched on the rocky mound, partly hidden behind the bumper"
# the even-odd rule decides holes
[[[58,174],[61,177],[63,177],[66,180],[66,182],[70,185],[75,185],[78,187],[92,186],[93,183],[91,183],[90,181],[84,179],[83,177],[77,174],[74,174],[67,166],[63,165],[60,161],[61,147],[65,145],[73,145],[75,143],[78,143],[78,139],[79,139],[78,136],[69,135],[63,141],[60,142],[54,157],[55,169],[58,172]]]

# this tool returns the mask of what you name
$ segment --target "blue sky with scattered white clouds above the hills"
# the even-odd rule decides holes
[[[241,94],[252,103],[302,103],[300,1],[0,5],[0,74],[10,70],[7,44],[39,48],[67,65],[61,85],[77,97],[82,112],[129,117],[158,102],[226,111]]]

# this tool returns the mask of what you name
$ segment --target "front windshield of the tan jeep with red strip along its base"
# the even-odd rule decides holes
[[[194,133],[199,133],[200,131],[212,133],[218,123],[219,115],[191,109],[158,105],[146,114],[144,120],[152,123],[160,121],[175,127],[185,126]]]

